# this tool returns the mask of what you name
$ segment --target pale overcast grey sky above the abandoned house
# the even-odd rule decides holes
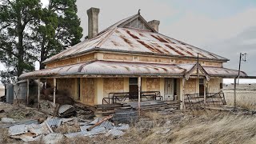
[[[229,58],[225,67],[238,69],[239,53],[247,53],[242,70],[256,75],[255,0],[77,0],[77,6],[84,36],[90,7],[100,9],[99,30],[141,9],[146,21],[160,21],[159,33]]]

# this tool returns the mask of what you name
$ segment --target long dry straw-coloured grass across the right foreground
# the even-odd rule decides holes
[[[95,138],[65,139],[62,143],[254,143],[256,119],[254,116],[218,113],[210,110],[186,114],[146,114],[154,125],[148,130],[138,124],[122,138],[98,136]],[[138,122],[140,123],[140,122]],[[149,126],[150,127],[150,126]],[[145,127],[143,127],[145,128]],[[170,129],[166,134],[162,131]]]

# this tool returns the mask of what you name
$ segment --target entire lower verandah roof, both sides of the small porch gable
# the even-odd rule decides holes
[[[37,70],[22,74],[19,78],[47,78],[66,75],[148,75],[148,76],[184,76],[195,64],[157,64],[142,62],[94,61],[52,69]],[[210,76],[236,77],[238,70],[221,67],[202,66]],[[246,73],[241,72],[241,76]]]

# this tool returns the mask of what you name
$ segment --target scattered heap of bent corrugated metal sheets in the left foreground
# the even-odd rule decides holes
[[[70,110],[69,106],[66,106],[66,108]],[[58,112],[60,113],[62,110]],[[67,112],[67,114],[69,114],[69,112]],[[113,122],[110,122],[110,118],[112,117],[113,115],[110,115],[106,118],[96,118],[94,121],[84,120],[82,122],[78,122],[78,118],[49,117],[42,123],[34,121],[15,122],[12,118],[2,118],[2,122],[8,123],[2,125],[2,127],[9,127],[8,134],[10,138],[22,139],[24,142],[42,140],[44,143],[56,143],[62,141],[63,138],[75,138],[78,136],[92,138],[98,134],[118,138],[125,134],[125,130],[129,129],[130,126],[122,123],[114,125]],[[57,129],[62,125],[73,127],[78,125],[78,130],[77,132],[61,134]]]

